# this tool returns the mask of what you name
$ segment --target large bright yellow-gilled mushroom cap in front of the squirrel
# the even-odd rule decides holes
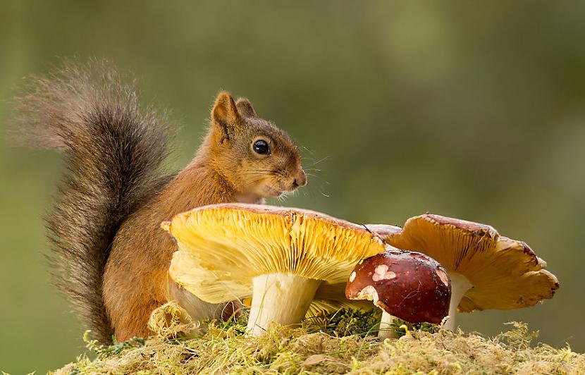
[[[162,227],[178,244],[169,275],[211,303],[252,295],[252,278],[268,273],[345,282],[359,259],[385,249],[363,226],[259,204],[198,207]]]

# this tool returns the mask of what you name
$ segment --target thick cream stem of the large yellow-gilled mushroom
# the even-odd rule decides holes
[[[307,314],[321,281],[290,273],[269,273],[252,279],[252,307],[247,332],[259,337],[271,324],[298,324]]]

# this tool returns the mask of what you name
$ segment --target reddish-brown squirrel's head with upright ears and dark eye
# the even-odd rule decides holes
[[[245,98],[234,102],[228,92],[218,94],[208,142],[212,167],[242,196],[278,197],[307,184],[295,142],[259,118]]]

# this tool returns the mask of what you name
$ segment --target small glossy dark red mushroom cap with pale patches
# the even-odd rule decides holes
[[[345,296],[373,300],[388,314],[411,323],[438,324],[449,314],[451,284],[447,271],[431,257],[387,251],[355,266]]]

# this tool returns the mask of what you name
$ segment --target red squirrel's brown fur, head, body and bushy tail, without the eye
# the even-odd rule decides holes
[[[174,176],[160,171],[165,118],[140,109],[107,63],[68,64],[35,79],[16,103],[25,140],[66,152],[70,173],[47,216],[56,281],[104,343],[112,333],[147,336],[150,313],[168,300],[196,319],[221,318],[222,306],[168,281],[176,245],[162,221],[204,204],[261,202],[307,182],[290,137],[227,92],[218,94],[195,158]],[[254,152],[259,139],[269,154]]]

